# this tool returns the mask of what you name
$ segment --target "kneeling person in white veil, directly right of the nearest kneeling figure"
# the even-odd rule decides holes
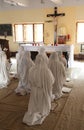
[[[58,99],[63,95],[62,88],[66,81],[66,70],[63,63],[59,60],[57,52],[51,53],[49,57],[49,68],[55,77],[53,94],[55,95],[55,99]]]

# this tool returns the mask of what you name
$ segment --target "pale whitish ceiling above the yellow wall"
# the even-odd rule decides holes
[[[5,3],[4,0],[0,0],[0,11],[7,11],[13,9],[35,9],[35,8],[49,8],[55,6],[79,6],[84,5],[84,0],[10,0],[10,1],[20,1],[25,3],[26,6],[15,6],[13,4]],[[61,2],[59,2],[61,1]]]

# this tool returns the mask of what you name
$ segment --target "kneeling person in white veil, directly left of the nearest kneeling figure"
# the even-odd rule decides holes
[[[31,59],[31,53],[29,51],[24,51],[21,55],[20,61],[18,61],[18,87],[15,92],[20,95],[25,95],[30,93],[31,88],[28,83],[29,79],[29,69],[34,65]]]

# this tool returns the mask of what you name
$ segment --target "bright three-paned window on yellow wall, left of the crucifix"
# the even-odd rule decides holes
[[[15,42],[43,42],[44,24],[15,24]]]

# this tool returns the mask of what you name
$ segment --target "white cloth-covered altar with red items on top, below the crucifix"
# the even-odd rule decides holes
[[[72,67],[73,65],[73,57],[74,57],[74,46],[73,45],[67,45],[67,44],[59,44],[57,46],[33,46],[29,44],[21,44],[21,46],[24,47],[26,51],[31,52],[38,52],[40,48],[44,48],[46,53],[52,53],[54,51],[57,52],[68,52],[69,54],[69,60],[68,60],[68,66]]]

